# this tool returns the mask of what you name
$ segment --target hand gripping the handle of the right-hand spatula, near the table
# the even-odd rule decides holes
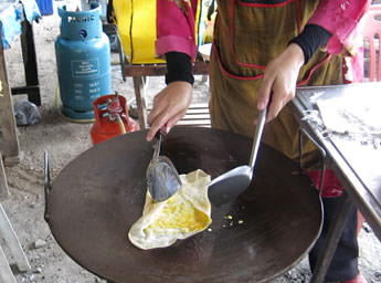
[[[267,122],[274,119],[281,109],[295,96],[299,70],[305,61],[299,45],[292,43],[265,69],[263,82],[258,91],[257,108],[267,107]]]

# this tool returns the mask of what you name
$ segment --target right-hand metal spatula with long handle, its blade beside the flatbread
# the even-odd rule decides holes
[[[221,206],[235,199],[251,184],[253,178],[254,164],[258,153],[263,127],[266,122],[267,109],[261,111],[256,124],[252,155],[248,166],[239,166],[219,177],[214,178],[209,185],[208,197],[215,206]]]

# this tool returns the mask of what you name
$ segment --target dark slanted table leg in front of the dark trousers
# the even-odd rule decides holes
[[[334,258],[336,247],[345,229],[348,213],[353,208],[353,202],[346,191],[342,191],[340,203],[335,213],[334,220],[329,226],[324,248],[317,259],[311,283],[321,283],[325,281],[329,264]]]

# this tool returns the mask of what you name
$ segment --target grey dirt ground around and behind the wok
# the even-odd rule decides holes
[[[7,178],[10,198],[3,207],[20,239],[27,256],[32,265],[30,272],[20,273],[14,269],[18,282],[47,283],[91,283],[103,282],[92,273],[77,265],[55,242],[43,219],[43,154],[50,156],[51,177],[54,179],[60,170],[80,153],[92,146],[89,130],[92,124],[71,123],[60,116],[56,108],[56,63],[54,41],[60,34],[60,18],[56,7],[81,6],[81,1],[54,1],[54,15],[43,17],[40,23],[34,23],[34,39],[39,61],[39,80],[42,95],[41,123],[33,126],[18,127],[20,146],[23,153],[21,163],[7,167]],[[19,42],[15,41],[7,50],[8,73],[11,86],[23,84],[23,67]],[[127,97],[134,106],[134,90],[130,78],[121,80],[117,65],[118,56],[113,54],[113,88]],[[149,85],[149,96],[163,85],[162,77],[152,78]],[[18,95],[15,99],[25,99]],[[201,77],[195,82],[195,101],[208,99],[208,83]],[[359,235],[360,269],[369,282],[381,282],[381,244],[366,223]],[[276,282],[306,282],[310,276],[306,259],[295,269],[287,272]]]

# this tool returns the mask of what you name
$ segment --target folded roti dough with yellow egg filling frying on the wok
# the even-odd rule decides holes
[[[210,175],[201,169],[180,175],[181,188],[166,201],[155,203],[147,190],[142,216],[131,226],[129,241],[142,250],[165,248],[205,230],[211,219],[208,199]]]

